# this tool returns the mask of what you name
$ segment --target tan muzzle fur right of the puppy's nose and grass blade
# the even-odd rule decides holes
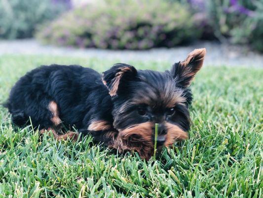
[[[188,139],[188,133],[183,131],[179,126],[171,124],[169,122],[166,122],[165,126],[167,128],[166,141],[164,143],[165,147],[172,146],[175,140]]]

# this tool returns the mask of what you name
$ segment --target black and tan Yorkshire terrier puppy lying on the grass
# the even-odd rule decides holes
[[[117,63],[100,73],[77,65],[40,66],[21,77],[6,107],[18,126],[29,124],[57,139],[90,134],[110,148],[137,151],[149,159],[157,146],[188,138],[190,83],[202,67],[205,49],[195,49],[170,71],[137,70]],[[58,133],[62,126],[77,129]]]

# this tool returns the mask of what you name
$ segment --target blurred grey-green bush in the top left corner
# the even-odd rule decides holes
[[[54,19],[64,10],[51,0],[0,0],[0,38],[32,37],[36,25]]]

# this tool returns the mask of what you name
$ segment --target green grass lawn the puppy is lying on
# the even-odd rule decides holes
[[[103,71],[114,62],[39,56],[0,56],[0,102],[28,70],[50,63]],[[164,70],[169,63],[132,62]],[[31,127],[19,129],[0,106],[2,197],[263,197],[263,69],[205,67],[192,85],[190,139],[156,160],[116,155],[89,137],[58,142]]]

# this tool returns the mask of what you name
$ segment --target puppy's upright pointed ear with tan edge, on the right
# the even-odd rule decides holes
[[[193,77],[203,65],[205,54],[205,48],[194,49],[184,61],[175,63],[172,66],[170,72],[180,87],[189,87]]]

